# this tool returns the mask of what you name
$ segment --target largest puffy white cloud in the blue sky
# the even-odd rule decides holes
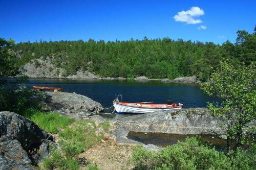
[[[196,19],[195,17],[199,17],[204,15],[204,10],[199,7],[191,7],[190,10],[178,12],[174,19],[178,22],[186,22],[187,24],[196,24],[202,23],[201,19]]]

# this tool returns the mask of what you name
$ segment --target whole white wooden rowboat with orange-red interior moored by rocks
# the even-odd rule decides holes
[[[150,113],[155,111],[174,110],[181,109],[182,104],[148,104],[153,102],[142,102],[142,103],[125,103],[114,101],[114,107],[117,113]]]

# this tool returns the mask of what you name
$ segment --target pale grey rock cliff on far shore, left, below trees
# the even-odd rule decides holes
[[[31,60],[25,64],[22,71],[29,78],[68,78],[68,79],[99,79],[99,77],[89,71],[78,70],[75,75],[63,76],[65,69],[53,65],[54,59],[47,57],[43,59]]]

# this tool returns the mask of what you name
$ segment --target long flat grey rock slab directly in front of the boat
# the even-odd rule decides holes
[[[125,136],[130,132],[168,134],[217,134],[224,135],[221,120],[212,117],[206,108],[178,109],[139,114],[116,119],[117,143],[133,143]],[[120,135],[121,134],[121,135]]]

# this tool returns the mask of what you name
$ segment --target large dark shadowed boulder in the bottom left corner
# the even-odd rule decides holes
[[[53,136],[31,120],[13,112],[0,112],[0,169],[34,169],[50,156]]]

